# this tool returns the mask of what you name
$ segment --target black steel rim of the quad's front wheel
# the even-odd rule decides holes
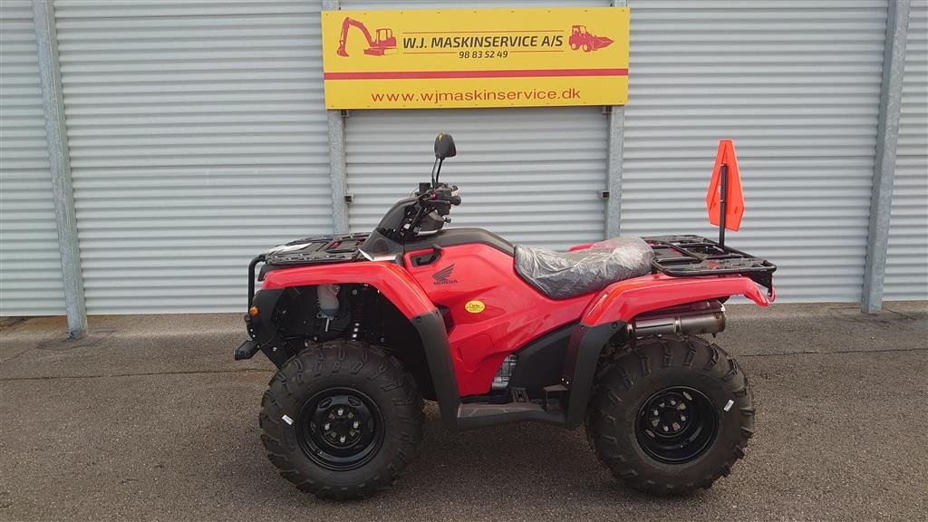
[[[353,388],[329,388],[303,403],[296,422],[306,455],[333,471],[358,468],[383,443],[383,414],[371,398]]]

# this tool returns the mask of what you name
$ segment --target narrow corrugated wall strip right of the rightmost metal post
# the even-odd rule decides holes
[[[928,299],[928,4],[909,13],[883,299]]]

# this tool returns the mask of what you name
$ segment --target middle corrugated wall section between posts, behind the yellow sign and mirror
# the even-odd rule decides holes
[[[342,1],[343,9],[386,8]],[[609,2],[391,2],[389,8],[602,7]],[[351,111],[345,124],[353,231],[428,181],[432,141],[450,133],[458,156],[442,179],[461,188],[451,227],[482,227],[532,245],[565,248],[602,238],[607,117],[599,107]]]

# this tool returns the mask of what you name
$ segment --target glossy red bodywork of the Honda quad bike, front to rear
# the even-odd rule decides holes
[[[489,245],[448,246],[438,260],[421,267],[410,261],[415,255],[431,252],[407,253],[404,267],[390,262],[356,262],[275,270],[267,274],[264,288],[367,283],[409,319],[431,313],[438,306],[447,307],[453,322],[448,345],[461,397],[487,393],[503,359],[570,323],[627,323],[643,312],[729,295],[745,295],[762,307],[774,298],[767,299],[754,281],[743,276],[674,278],[651,274],[615,282],[599,292],[554,300],[522,281],[511,255]],[[480,306],[469,311],[468,304],[475,301]]]

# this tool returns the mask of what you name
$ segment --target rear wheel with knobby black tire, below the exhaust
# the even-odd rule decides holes
[[[753,434],[747,378],[725,350],[695,336],[648,337],[605,358],[586,412],[599,462],[658,494],[711,487]]]

